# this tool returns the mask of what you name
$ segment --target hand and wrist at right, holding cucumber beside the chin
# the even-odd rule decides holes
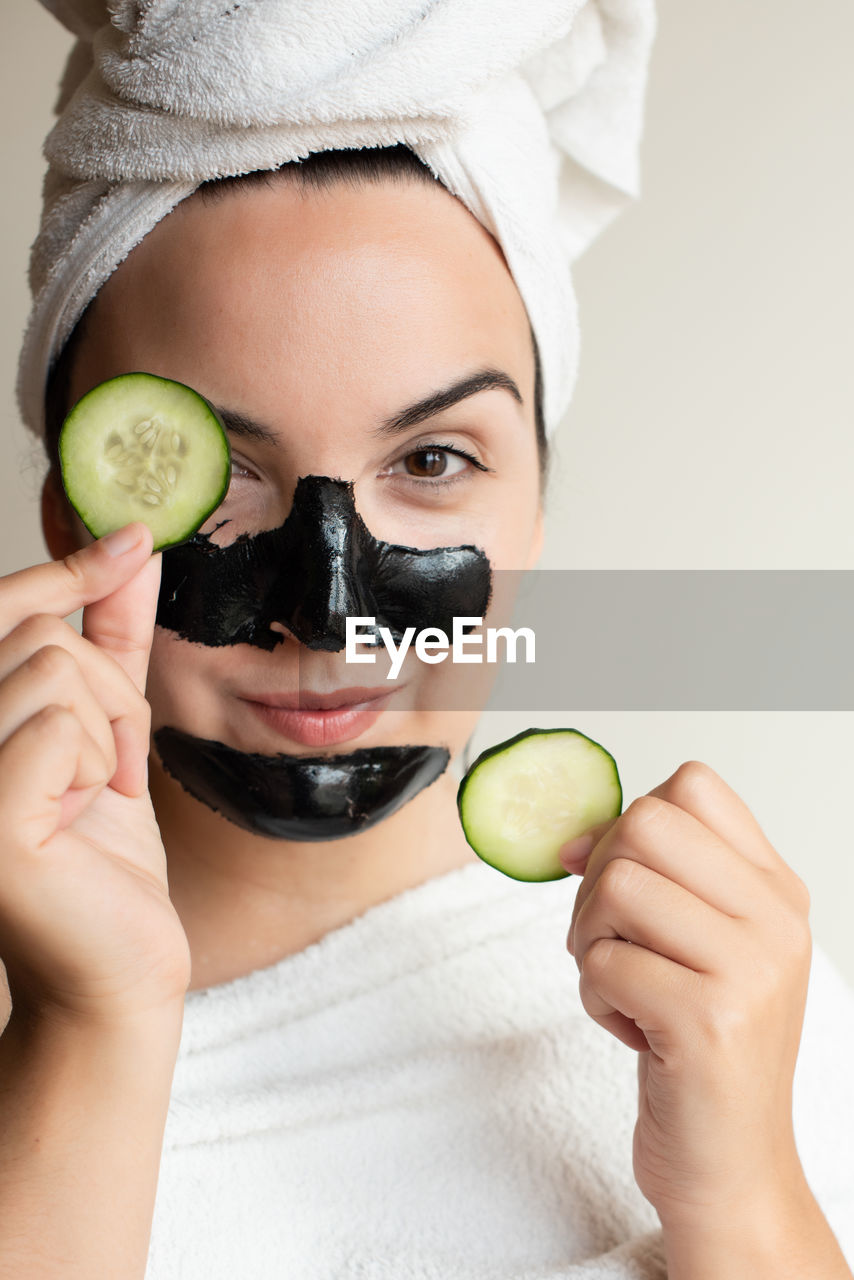
[[[585,1010],[639,1051],[638,1184],[666,1238],[723,1239],[727,1224],[762,1234],[776,1222],[782,1239],[784,1222],[817,1212],[791,1114],[807,888],[695,760],[592,835],[592,852],[581,837],[561,855],[584,873],[568,947]],[[723,1274],[698,1266],[672,1274]]]

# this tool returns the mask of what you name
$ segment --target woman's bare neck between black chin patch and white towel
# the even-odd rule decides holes
[[[346,840],[266,840],[188,796],[151,760],[169,893],[192,956],[189,989],[264,969],[378,902],[476,863],[443,773],[396,814]]]

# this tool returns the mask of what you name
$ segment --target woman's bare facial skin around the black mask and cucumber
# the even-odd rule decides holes
[[[356,511],[387,543],[474,544],[493,571],[539,554],[528,317],[495,242],[438,184],[315,192],[280,178],[184,201],[101,289],[72,399],[133,370],[196,388],[229,425],[232,484],[205,526],[216,543],[280,526],[297,480],[328,476],[352,481]],[[495,385],[426,403],[484,372]],[[280,631],[265,650],[157,627],[154,727],[297,755],[380,744],[453,755],[469,737],[475,713],[435,698],[428,709],[419,692],[442,668],[408,659],[361,719],[265,714],[264,698],[296,689],[388,687],[383,653],[352,666]]]

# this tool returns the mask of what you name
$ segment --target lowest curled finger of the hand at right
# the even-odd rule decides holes
[[[584,1009],[613,1032],[620,1014],[643,1032],[649,1048],[667,1057],[677,1036],[686,1036],[685,1010],[702,1007],[703,978],[675,961],[620,940],[600,940],[589,947],[579,995]],[[676,1018],[677,1025],[671,1025]],[[608,1025],[611,1021],[612,1025]]]

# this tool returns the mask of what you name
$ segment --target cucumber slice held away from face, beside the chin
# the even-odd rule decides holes
[[[490,867],[520,881],[562,879],[561,845],[617,818],[622,786],[615,758],[579,730],[526,728],[478,756],[457,808]]]

